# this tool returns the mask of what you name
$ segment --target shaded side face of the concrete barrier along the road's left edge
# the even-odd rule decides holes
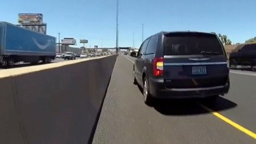
[[[116,57],[1,78],[0,143],[90,141]]]

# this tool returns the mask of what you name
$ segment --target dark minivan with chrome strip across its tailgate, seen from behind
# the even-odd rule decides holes
[[[147,38],[133,66],[133,83],[143,87],[146,104],[154,98],[214,100],[229,91],[229,63],[214,33],[160,32]]]

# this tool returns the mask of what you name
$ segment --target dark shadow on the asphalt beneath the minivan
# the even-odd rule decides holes
[[[142,93],[141,87],[139,89]],[[208,109],[205,109],[204,106]],[[153,107],[162,115],[201,115],[212,111],[218,112],[233,109],[236,106],[236,103],[219,96],[214,102],[206,102],[199,98],[182,100],[155,99]],[[212,111],[209,111],[209,109]]]

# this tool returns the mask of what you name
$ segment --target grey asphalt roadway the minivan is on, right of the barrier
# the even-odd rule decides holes
[[[133,57],[119,55],[92,143],[256,143],[256,74],[231,70],[231,89],[215,104],[144,104],[132,84]]]

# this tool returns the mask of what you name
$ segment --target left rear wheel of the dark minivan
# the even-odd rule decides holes
[[[154,98],[149,93],[147,78],[143,78],[143,100],[147,106],[154,106]]]

